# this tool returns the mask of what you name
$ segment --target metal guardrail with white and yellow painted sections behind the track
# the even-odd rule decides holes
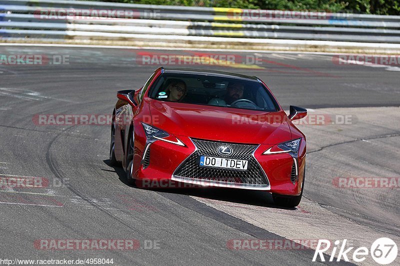
[[[115,10],[121,12],[113,16]],[[260,39],[400,43],[400,16],[301,11],[289,17],[282,12],[76,0],[0,0],[0,38],[207,41],[217,37],[228,42],[234,37],[250,43],[259,43]],[[63,16],[65,13],[78,15]]]

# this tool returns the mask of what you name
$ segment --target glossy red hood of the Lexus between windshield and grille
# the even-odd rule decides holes
[[[284,111],[265,113],[156,100],[148,104],[153,126],[175,136],[251,144],[291,139]]]

